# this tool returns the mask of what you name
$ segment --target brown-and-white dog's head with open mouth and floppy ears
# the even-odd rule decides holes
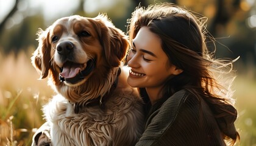
[[[32,64],[40,78],[49,75],[55,86],[73,87],[118,67],[129,46],[124,33],[105,15],[60,18],[38,32],[38,41]]]

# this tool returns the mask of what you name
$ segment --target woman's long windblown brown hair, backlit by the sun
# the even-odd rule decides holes
[[[149,5],[147,9],[137,7],[129,19],[130,41],[141,27],[147,26],[162,40],[162,49],[183,72],[166,80],[163,97],[169,97],[180,89],[187,89],[208,103],[224,133],[234,145],[240,139],[234,122],[237,111],[233,107],[233,91],[230,88],[235,78],[232,74],[234,60],[215,59],[214,51],[207,49],[206,39],[212,39],[205,29],[207,19],[202,15],[170,3]],[[167,68],[168,66],[166,66]],[[199,98],[198,98],[199,99]],[[200,99],[199,99],[200,100]]]

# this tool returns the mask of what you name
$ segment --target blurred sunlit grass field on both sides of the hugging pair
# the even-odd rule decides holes
[[[30,53],[0,54],[0,145],[31,145],[34,131],[44,122],[41,107],[54,94],[46,80],[37,80]],[[241,135],[236,145],[256,146],[256,80],[238,75],[233,88],[239,114],[236,127]]]

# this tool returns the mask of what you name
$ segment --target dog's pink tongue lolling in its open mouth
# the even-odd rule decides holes
[[[62,75],[62,77],[65,77],[65,78],[73,78],[80,72],[81,68],[82,68],[81,64],[65,63],[60,75]]]

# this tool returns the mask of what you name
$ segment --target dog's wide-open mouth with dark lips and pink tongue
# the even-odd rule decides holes
[[[87,63],[79,64],[71,61],[66,61],[63,67],[60,68],[62,72],[59,74],[59,79],[61,82],[68,82],[71,84],[76,84],[84,79],[85,76],[93,71],[95,63],[93,60],[89,60]]]

